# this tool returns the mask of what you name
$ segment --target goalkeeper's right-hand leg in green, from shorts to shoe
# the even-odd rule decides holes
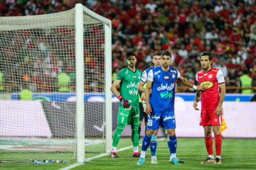
[[[132,128],[132,144],[134,147],[134,153],[132,157],[139,157],[139,108],[133,109],[131,118]]]

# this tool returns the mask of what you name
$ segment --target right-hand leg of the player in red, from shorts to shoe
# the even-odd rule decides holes
[[[216,159],[214,164],[221,164],[221,145],[222,138],[220,133],[220,125],[222,125],[222,115],[217,117],[215,114],[215,110],[212,111],[212,125],[213,125],[213,133],[215,136],[215,151],[216,151]]]

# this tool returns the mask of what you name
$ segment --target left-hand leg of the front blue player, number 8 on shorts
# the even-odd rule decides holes
[[[154,130],[159,129],[159,118],[161,113],[151,113],[151,116],[148,118],[148,123],[147,123],[147,129],[146,129],[146,134],[144,135],[143,141],[142,141],[142,152],[139,158],[139,162],[137,163],[138,165],[144,164],[145,161],[145,155],[146,155],[146,150],[149,147],[151,136],[154,133]]]

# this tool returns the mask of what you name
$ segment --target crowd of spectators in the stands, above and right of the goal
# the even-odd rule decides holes
[[[137,54],[137,68],[145,69],[152,66],[153,52],[170,50],[172,65],[194,83],[201,70],[199,56],[208,51],[227,86],[240,86],[243,75],[256,86],[256,3],[252,0],[0,0],[0,15],[55,13],[76,3],[112,20],[112,79],[126,67],[128,51]]]

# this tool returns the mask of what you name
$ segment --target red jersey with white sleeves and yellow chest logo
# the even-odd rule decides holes
[[[208,72],[203,69],[196,74],[196,81],[200,86],[205,86],[206,91],[202,91],[201,102],[202,111],[215,109],[220,101],[219,84],[225,83],[223,73],[219,69],[212,68]]]

